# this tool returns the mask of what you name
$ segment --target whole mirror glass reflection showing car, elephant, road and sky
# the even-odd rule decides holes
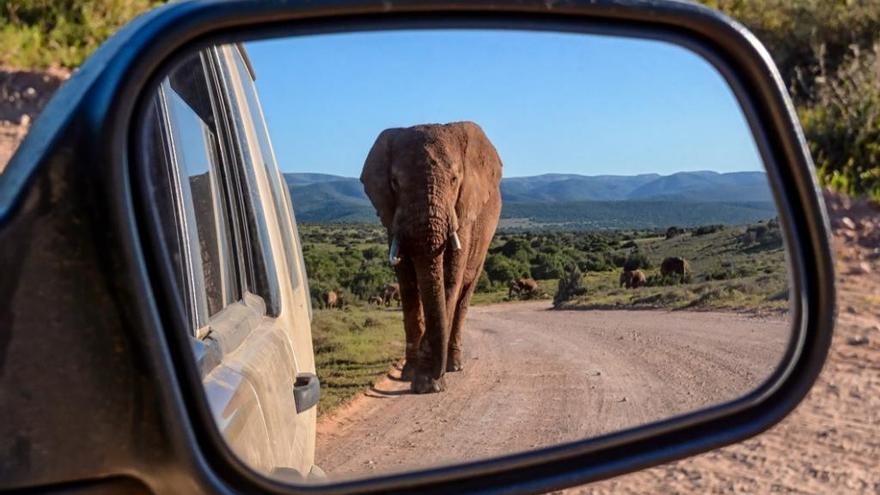
[[[788,345],[761,156],[684,48],[493,30],[217,46],[168,74],[144,126],[207,400],[269,475],[621,431],[742,397]]]

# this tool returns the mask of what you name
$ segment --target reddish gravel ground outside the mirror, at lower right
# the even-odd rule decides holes
[[[880,494],[880,208],[826,193],[838,320],[809,395],[745,442],[566,490],[573,494]]]

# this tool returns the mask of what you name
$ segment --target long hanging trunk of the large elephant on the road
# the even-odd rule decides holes
[[[419,349],[422,373],[439,380],[446,372],[449,347],[449,324],[446,313],[446,289],[443,253],[413,259],[419,285],[419,298],[425,315],[425,335]]]

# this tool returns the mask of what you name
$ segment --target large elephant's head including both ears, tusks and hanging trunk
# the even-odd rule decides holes
[[[484,205],[497,199],[500,180],[498,153],[473,122],[387,129],[364,163],[361,182],[388,231],[389,261],[409,257],[414,266],[425,335],[440,353],[436,376],[449,337],[443,255],[461,249],[460,233],[473,230]]]

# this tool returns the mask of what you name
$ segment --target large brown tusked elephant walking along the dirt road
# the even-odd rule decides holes
[[[473,122],[386,129],[361,173],[387,229],[406,332],[403,376],[440,392],[501,213],[501,159]]]

